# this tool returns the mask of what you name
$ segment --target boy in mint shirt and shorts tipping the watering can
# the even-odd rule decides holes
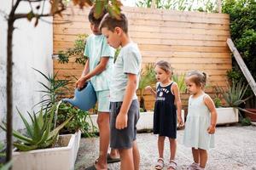
[[[83,88],[86,81],[90,79],[93,88],[96,91],[96,97],[98,102],[98,118],[97,124],[100,131],[100,156],[96,160],[96,163],[89,169],[107,169],[108,163],[119,161],[117,159],[118,153],[116,150],[111,150],[108,155],[109,144],[109,80],[113,74],[113,56],[114,49],[111,48],[106,38],[102,35],[98,26],[102,20],[102,17],[96,19],[94,17],[95,8],[90,9],[88,16],[90,20],[90,29],[93,34],[87,38],[86,46],[84,50],[84,56],[88,59],[84,65],[84,71],[82,76],[76,82],[76,88]]]

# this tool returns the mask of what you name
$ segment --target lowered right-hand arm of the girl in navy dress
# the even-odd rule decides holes
[[[180,95],[179,95],[179,89],[177,87],[177,83],[176,82],[173,82],[173,85],[172,85],[172,92],[175,96],[175,105],[177,107],[177,123],[180,127],[183,126],[183,119],[182,119],[182,116],[181,116],[181,111],[182,111],[182,102],[181,102],[181,99],[180,99]]]

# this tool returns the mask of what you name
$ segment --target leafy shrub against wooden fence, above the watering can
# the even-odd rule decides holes
[[[86,59],[84,57],[84,48],[86,44],[87,34],[79,34],[74,42],[73,48],[67,48],[67,51],[59,51],[59,62],[62,64],[68,63],[69,59],[74,57],[75,62],[85,65]]]

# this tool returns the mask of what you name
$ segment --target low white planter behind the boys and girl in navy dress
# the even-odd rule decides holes
[[[91,115],[90,118],[91,118],[91,121],[94,123],[94,125],[98,128],[96,123],[97,115]],[[183,110],[182,110],[182,118],[184,122]],[[153,129],[153,119],[154,119],[153,111],[140,112],[140,119],[137,122],[137,130]]]

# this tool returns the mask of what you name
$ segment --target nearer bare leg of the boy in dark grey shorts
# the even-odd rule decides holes
[[[120,170],[134,170],[132,148],[119,150],[119,155],[121,159]]]

